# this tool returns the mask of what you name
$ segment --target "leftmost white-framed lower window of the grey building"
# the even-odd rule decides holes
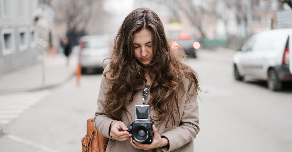
[[[14,52],[14,31],[13,29],[3,29],[1,32],[2,39],[2,54],[8,55]]]

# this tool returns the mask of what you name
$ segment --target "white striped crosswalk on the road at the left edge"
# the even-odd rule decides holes
[[[7,93],[0,95],[0,125],[9,124],[25,110],[41,101],[50,93],[49,90]]]

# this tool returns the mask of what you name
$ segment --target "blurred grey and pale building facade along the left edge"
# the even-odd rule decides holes
[[[37,0],[0,0],[0,76],[38,62],[32,16]]]

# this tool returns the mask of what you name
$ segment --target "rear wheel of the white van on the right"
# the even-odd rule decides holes
[[[278,75],[275,70],[270,69],[268,72],[268,88],[270,90],[281,90],[282,82],[280,82]]]

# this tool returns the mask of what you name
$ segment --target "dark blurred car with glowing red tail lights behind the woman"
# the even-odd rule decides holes
[[[179,34],[178,38],[173,38],[172,40],[173,43],[179,43],[189,57],[197,57],[196,50],[199,49],[201,45],[194,36],[190,34]]]

